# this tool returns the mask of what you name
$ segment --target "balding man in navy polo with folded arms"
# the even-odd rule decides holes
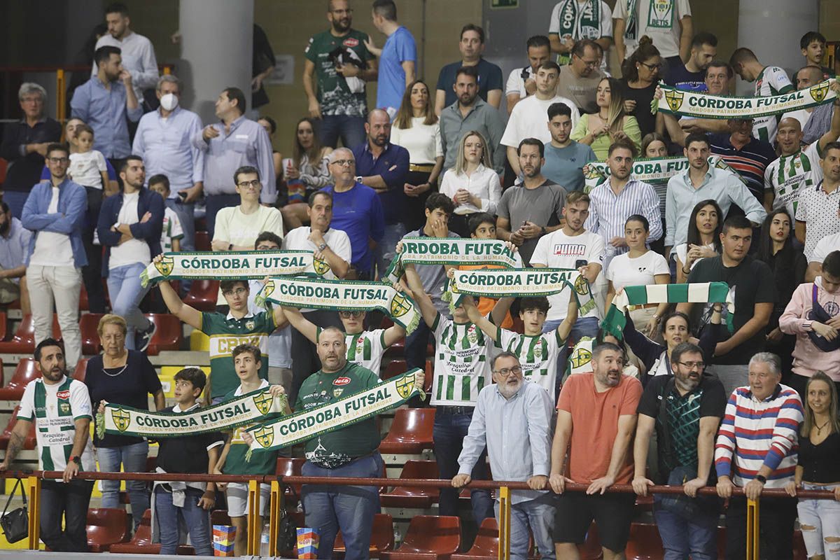
[[[365,133],[365,144],[353,149],[358,175],[356,181],[370,186],[382,202],[385,236],[374,252],[379,275],[384,275],[394,258],[396,242],[406,234],[402,224],[402,207],[406,201],[403,186],[408,175],[408,150],[391,144],[391,118],[384,109],[368,113]]]

